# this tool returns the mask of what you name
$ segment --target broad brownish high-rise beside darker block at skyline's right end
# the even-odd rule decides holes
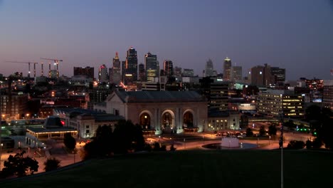
[[[274,84],[274,78],[270,71],[270,66],[255,66],[250,71],[251,84],[257,86],[270,86]]]

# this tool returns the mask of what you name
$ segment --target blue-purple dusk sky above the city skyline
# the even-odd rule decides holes
[[[60,75],[92,66],[97,77],[100,65],[112,67],[116,51],[125,61],[129,46],[137,50],[138,63],[150,52],[161,67],[170,59],[199,76],[208,58],[221,73],[228,56],[233,66],[243,66],[243,76],[268,63],[285,68],[287,80],[333,79],[333,1],[0,0],[4,75],[28,70],[4,61],[59,58]]]

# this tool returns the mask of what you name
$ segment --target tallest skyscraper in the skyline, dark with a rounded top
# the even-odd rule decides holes
[[[137,51],[131,46],[127,51],[125,65],[125,84],[137,81]]]

